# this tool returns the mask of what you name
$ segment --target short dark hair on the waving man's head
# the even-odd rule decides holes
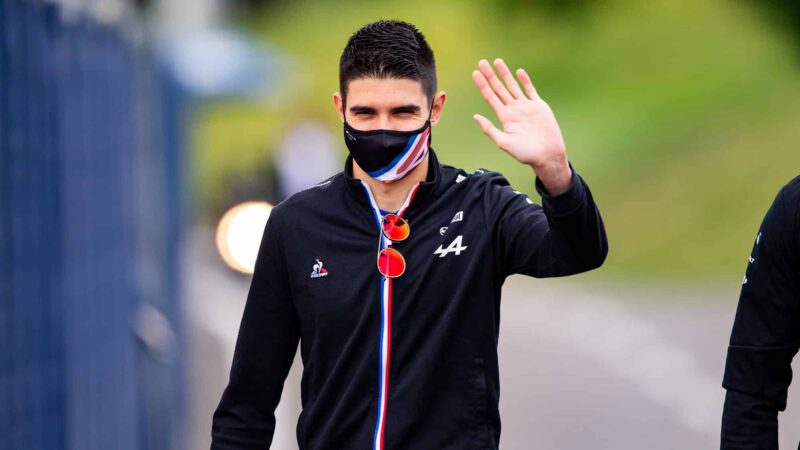
[[[433,101],[436,63],[425,36],[414,25],[399,20],[379,20],[350,36],[339,59],[339,92],[359,78],[408,78],[422,83]]]

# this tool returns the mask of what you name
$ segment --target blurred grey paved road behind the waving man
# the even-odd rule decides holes
[[[249,278],[221,265],[209,230],[190,236],[187,449],[208,448],[227,381]],[[738,286],[587,287],[512,277],[500,331],[501,448],[713,449],[720,380]],[[622,284],[622,283],[621,283]],[[797,366],[797,364],[795,364]],[[299,354],[276,412],[273,449],[296,449]],[[781,414],[781,448],[800,442],[800,389]]]

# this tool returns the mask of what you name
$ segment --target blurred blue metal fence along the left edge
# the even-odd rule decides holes
[[[183,97],[130,23],[0,0],[0,448],[176,448]]]

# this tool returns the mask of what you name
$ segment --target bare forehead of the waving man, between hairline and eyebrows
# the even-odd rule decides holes
[[[419,80],[410,78],[356,78],[347,86],[347,106],[394,108],[425,104],[426,95]]]

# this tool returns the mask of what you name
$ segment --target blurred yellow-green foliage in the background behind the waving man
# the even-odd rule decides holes
[[[609,233],[599,276],[741,278],[777,190],[800,173],[796,42],[748,2],[270,2],[242,26],[295,58],[287,97],[215,104],[197,116],[197,192],[219,208],[292,120],[334,135],[338,59],[352,32],[381,18],[417,25],[448,95],[433,147],[449,164],[504,173],[534,195],[529,168],[480,132],[494,117],[471,80],[480,58],[524,67],[553,108],[575,168]],[[564,6],[566,5],[566,6]],[[342,157],[344,157],[342,145]]]

